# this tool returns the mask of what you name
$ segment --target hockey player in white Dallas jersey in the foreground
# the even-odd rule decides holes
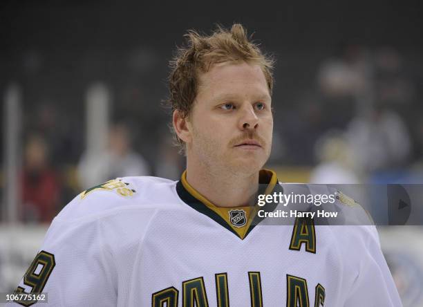
[[[239,24],[189,31],[169,78],[186,171],[82,192],[17,293],[46,292],[39,306],[401,306],[373,226],[261,225],[252,200],[283,192],[262,169],[272,64]]]

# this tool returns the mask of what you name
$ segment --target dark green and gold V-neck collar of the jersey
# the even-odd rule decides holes
[[[265,210],[266,212],[272,212],[276,205],[269,204],[263,207],[258,207],[257,205],[252,207],[217,207],[212,202],[210,202],[205,196],[201,195],[187,182],[187,172],[185,171],[181,179],[176,185],[176,192],[180,199],[192,207],[194,210],[209,216],[216,223],[222,225],[227,230],[238,236],[240,239],[244,239],[247,234],[249,234],[253,228],[259,224],[263,218],[260,218],[256,215],[257,211]],[[262,169],[259,175],[259,194],[272,194],[273,192],[283,192],[281,185],[279,185],[274,171],[267,169]],[[230,221],[230,211],[242,210],[247,214],[247,222],[243,227],[236,227]]]

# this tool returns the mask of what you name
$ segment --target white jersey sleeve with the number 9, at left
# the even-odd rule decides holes
[[[72,207],[79,205],[77,196],[64,211],[75,212]],[[17,301],[8,306],[116,306],[113,259],[104,244],[100,218],[62,216],[53,220],[17,288],[17,292],[46,293],[47,303]]]

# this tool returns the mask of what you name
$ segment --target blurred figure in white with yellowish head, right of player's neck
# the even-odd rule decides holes
[[[310,183],[359,183],[358,171],[353,164],[353,151],[344,133],[329,131],[319,138],[315,154],[319,165],[310,175]]]

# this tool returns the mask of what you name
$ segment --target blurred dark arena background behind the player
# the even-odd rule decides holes
[[[167,64],[188,29],[234,22],[276,58],[267,167],[279,180],[423,182],[417,1],[1,1],[0,292],[82,189],[179,178]],[[423,306],[422,227],[379,231],[404,306]]]

